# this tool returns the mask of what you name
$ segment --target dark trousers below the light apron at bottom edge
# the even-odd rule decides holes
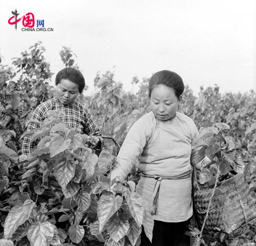
[[[143,226],[140,246],[178,246],[190,245],[190,237],[183,235],[187,230],[189,220],[185,222],[169,223],[154,220],[152,243],[147,238]]]

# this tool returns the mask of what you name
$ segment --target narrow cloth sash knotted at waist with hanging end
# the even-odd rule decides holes
[[[161,181],[163,179],[170,179],[170,180],[187,179],[190,177],[190,171],[188,171],[184,175],[172,176],[172,177],[163,177],[163,176],[159,176],[159,175],[147,175],[147,174],[142,173],[141,177],[152,178],[152,179],[156,180],[155,188],[154,188],[153,194],[151,196],[151,202],[150,202],[150,212],[152,215],[154,215],[154,214],[158,213],[158,196],[159,196]]]

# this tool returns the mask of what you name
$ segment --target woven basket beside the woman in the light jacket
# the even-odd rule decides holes
[[[200,228],[208,208],[214,185],[199,186],[194,168],[194,211]],[[254,222],[256,206],[245,182],[243,174],[218,182],[212,197],[205,230],[210,232],[232,233],[245,225]]]

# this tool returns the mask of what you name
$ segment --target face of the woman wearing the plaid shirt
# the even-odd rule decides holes
[[[62,104],[70,104],[74,102],[79,94],[79,86],[70,80],[62,79],[57,84],[56,96]]]

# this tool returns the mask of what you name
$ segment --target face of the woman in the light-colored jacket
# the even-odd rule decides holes
[[[151,110],[159,120],[167,120],[174,116],[179,102],[174,89],[166,85],[158,85],[151,92]]]

